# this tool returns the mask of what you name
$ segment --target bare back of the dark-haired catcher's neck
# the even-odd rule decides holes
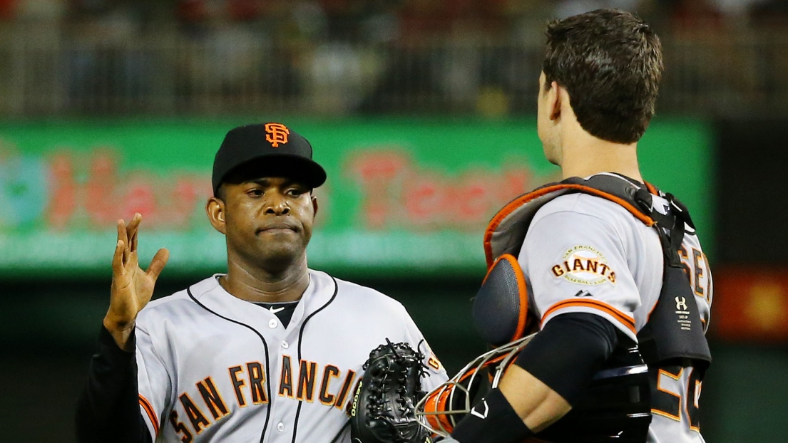
[[[637,166],[637,143],[608,142],[585,131],[563,138],[561,174],[564,179],[601,172],[615,172],[642,182]]]

